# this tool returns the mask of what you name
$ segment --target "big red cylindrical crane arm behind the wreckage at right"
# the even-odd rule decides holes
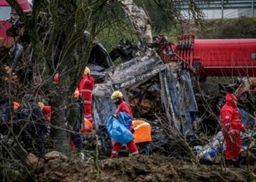
[[[177,44],[165,45],[159,52],[166,62],[181,61],[185,69],[200,77],[256,77],[256,39],[195,39],[194,35],[184,35]]]

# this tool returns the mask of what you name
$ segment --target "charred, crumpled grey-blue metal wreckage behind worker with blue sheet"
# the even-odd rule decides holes
[[[197,103],[189,73],[181,71],[178,65],[162,63],[159,55],[148,49],[132,60],[108,68],[105,81],[94,86],[94,124],[102,152],[108,154],[111,150],[105,125],[116,110],[110,99],[113,90],[124,93],[124,99],[132,107],[135,118],[143,118],[151,123],[151,150],[168,141],[163,123],[192,138],[190,112],[197,111]]]

